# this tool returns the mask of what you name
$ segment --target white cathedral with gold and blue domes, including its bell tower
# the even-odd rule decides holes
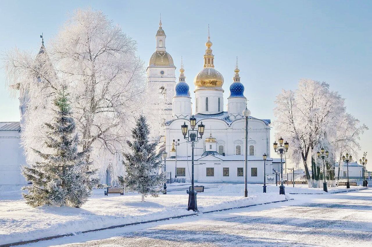
[[[208,32],[202,70],[194,79],[194,102],[191,103],[189,85],[181,61],[176,83],[173,59],[166,51],[166,34],[159,23],[155,35],[156,50],[147,68],[148,83],[158,84],[167,101],[164,136],[158,152],[167,152],[166,172],[172,178],[191,180],[191,145],[182,135],[181,125],[193,115],[196,125],[206,126],[203,138],[195,145],[195,181],[244,182],[245,173],[245,117],[246,97],[240,82],[238,64],[230,85],[227,110],[224,110],[224,77],[215,69],[212,42]],[[270,120],[248,118],[248,182],[263,182],[266,174],[280,171],[280,159],[270,157]],[[188,124],[189,125],[189,124]],[[283,160],[284,161],[284,160]]]

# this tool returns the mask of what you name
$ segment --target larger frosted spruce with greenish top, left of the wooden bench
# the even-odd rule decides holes
[[[33,207],[45,204],[80,207],[99,179],[92,178],[96,170],[85,169],[89,150],[78,152],[76,124],[65,87],[57,93],[53,104],[54,118],[44,124],[48,128],[44,144],[51,153],[33,150],[42,161],[23,167],[23,175],[32,182],[22,188],[28,190],[23,197]]]

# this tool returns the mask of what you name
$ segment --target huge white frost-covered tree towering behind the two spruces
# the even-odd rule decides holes
[[[32,148],[43,148],[39,140],[45,129],[37,123],[51,119],[49,99],[63,83],[70,89],[81,147],[91,150],[89,168],[100,173],[109,169],[117,177],[138,113],[148,117],[154,137],[162,130],[165,102],[158,90],[146,86],[136,42],[101,11],[78,9],[46,47],[36,59],[33,52],[18,49],[5,56],[7,84],[18,89],[14,96],[19,92],[28,99],[22,130],[28,163],[38,159]]]

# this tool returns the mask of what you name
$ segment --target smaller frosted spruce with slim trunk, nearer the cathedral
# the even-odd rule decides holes
[[[157,143],[149,140],[150,129],[146,118],[141,115],[132,130],[133,141],[128,141],[130,153],[124,153],[124,169],[126,175],[119,176],[119,182],[126,191],[142,194],[142,202],[145,196],[157,197],[163,192],[162,185],[165,173],[157,174],[162,167],[161,154],[155,153]]]

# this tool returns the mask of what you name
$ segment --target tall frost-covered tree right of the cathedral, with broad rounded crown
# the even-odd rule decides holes
[[[291,144],[288,154],[295,164],[304,164],[309,186],[320,183],[321,161],[316,152],[321,147],[334,153],[334,131],[345,115],[344,99],[339,93],[329,90],[327,83],[301,79],[298,89],[282,90],[275,100],[276,135],[287,138]],[[309,168],[312,170],[312,180]]]

